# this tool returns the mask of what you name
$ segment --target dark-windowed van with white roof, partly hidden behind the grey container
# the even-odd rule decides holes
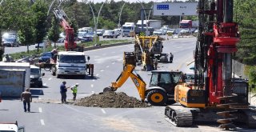
[[[30,65],[30,86],[42,87],[42,76],[41,69],[38,66]]]

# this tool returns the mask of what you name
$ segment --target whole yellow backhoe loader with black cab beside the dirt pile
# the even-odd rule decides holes
[[[146,99],[151,105],[162,106],[168,100],[174,99],[174,87],[178,84],[181,72],[152,70],[150,86],[146,88],[146,82],[143,81],[139,74],[134,74],[134,68],[135,66],[131,64],[124,66],[122,73],[116,81],[112,82],[111,86],[106,87],[103,92],[118,90],[126,82],[127,78],[130,77],[138,90],[142,102]]]

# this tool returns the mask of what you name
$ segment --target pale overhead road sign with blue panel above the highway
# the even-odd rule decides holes
[[[198,2],[155,2],[154,16],[198,15]]]

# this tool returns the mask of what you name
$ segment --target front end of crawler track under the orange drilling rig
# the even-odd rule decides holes
[[[166,106],[166,120],[174,126],[192,126],[193,114],[190,108],[183,106]]]

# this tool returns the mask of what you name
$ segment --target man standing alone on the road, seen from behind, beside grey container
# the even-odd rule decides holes
[[[23,101],[24,112],[26,112],[26,110],[30,112],[30,102],[32,102],[30,89],[27,88],[24,92],[22,92],[21,101]],[[26,109],[26,104],[27,104],[27,109]]]

